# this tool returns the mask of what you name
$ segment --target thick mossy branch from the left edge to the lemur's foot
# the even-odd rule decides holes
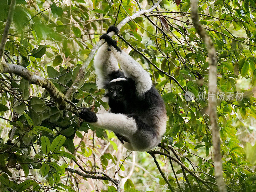
[[[36,84],[44,89],[46,89],[52,98],[58,103],[60,109],[66,109],[68,111],[73,112],[74,114],[78,114],[79,109],[76,107],[74,103],[68,100],[65,95],[60,92],[51,80],[45,79],[41,76],[34,75],[28,69],[15,64],[10,63],[0,63],[0,73],[13,73],[15,75],[19,75],[26,79],[30,84]]]

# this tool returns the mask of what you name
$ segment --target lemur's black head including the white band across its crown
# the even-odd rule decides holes
[[[124,101],[131,97],[131,82],[126,78],[117,78],[108,84],[108,97],[116,101]]]

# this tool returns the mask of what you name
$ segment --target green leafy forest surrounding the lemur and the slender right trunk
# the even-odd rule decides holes
[[[169,120],[161,147],[128,151],[113,132],[76,115],[81,106],[108,109],[92,65],[100,35],[155,3],[0,1],[0,39],[8,13],[14,13],[0,47],[1,192],[218,191],[207,113],[208,53],[193,26],[189,0],[160,1],[114,36],[151,74],[165,101]],[[256,4],[202,0],[198,13],[218,56],[217,114],[227,191],[256,191]],[[19,73],[6,70],[12,64]],[[43,78],[32,81],[33,75]],[[186,101],[184,91],[195,100]]]

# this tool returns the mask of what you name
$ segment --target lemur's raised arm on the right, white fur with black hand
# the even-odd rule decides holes
[[[115,30],[116,32],[116,30],[118,29],[115,26],[111,26],[111,28],[108,29],[107,33],[111,30]],[[130,55],[123,52],[116,45],[116,41],[108,36],[108,34],[103,34],[100,38],[105,39],[108,45],[110,45],[109,47],[111,49],[111,52],[121,66],[124,75],[128,78],[132,78],[135,81],[137,93],[139,95],[142,95],[147,92],[152,86],[150,75]]]

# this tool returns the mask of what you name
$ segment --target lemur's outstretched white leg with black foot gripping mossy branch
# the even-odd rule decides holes
[[[124,114],[95,114],[90,109],[84,108],[79,116],[96,127],[108,129],[127,138],[131,137],[138,130],[135,119]]]

